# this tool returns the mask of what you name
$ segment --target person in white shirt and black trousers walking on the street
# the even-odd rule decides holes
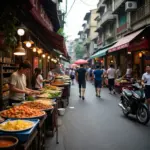
[[[112,91],[115,94],[115,89],[114,89],[114,86],[115,86],[115,73],[116,73],[116,70],[114,69],[114,65],[111,64],[110,68],[107,70],[108,86],[109,86],[110,94],[111,94]]]

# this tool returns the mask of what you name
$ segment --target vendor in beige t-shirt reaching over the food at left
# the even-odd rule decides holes
[[[10,105],[25,100],[25,94],[40,94],[39,91],[31,90],[26,87],[26,75],[31,69],[31,64],[24,61],[19,65],[19,69],[10,78]]]

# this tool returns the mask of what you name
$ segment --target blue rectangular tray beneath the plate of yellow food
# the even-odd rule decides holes
[[[17,119],[7,119],[6,121],[8,121],[8,120],[17,120]],[[30,130],[22,131],[22,132],[14,132],[14,133],[0,131],[0,135],[15,136],[15,137],[17,137],[19,139],[19,141],[21,143],[26,142],[29,139],[30,135],[33,133],[34,129],[37,127],[37,125],[40,122],[39,119],[26,119],[26,120],[30,120],[30,121],[34,122],[34,126]]]

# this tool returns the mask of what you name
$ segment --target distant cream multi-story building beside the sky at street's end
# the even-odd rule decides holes
[[[84,20],[86,23],[83,24],[84,31],[84,46],[86,48],[87,57],[93,54],[95,43],[93,39],[97,36],[95,32],[97,28],[97,22],[95,20],[97,16],[96,9],[90,10],[90,12],[86,13]]]

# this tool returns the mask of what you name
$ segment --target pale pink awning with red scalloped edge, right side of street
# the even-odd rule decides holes
[[[127,48],[129,46],[129,43],[136,37],[138,36],[142,31],[142,30],[139,30],[137,32],[134,32],[134,33],[131,33],[123,38],[121,38],[115,45],[113,45],[108,53],[111,53],[111,52],[114,52],[114,51],[118,51],[120,49],[124,49],[124,48]]]

